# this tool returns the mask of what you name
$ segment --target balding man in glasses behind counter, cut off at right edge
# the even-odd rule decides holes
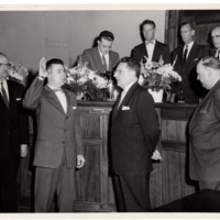
[[[220,26],[211,31],[211,40],[215,47],[210,50],[210,55],[220,59]]]

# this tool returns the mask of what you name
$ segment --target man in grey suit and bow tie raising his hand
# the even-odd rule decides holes
[[[44,86],[44,79],[47,85]],[[64,63],[53,58],[40,62],[40,75],[23,99],[23,106],[36,110],[35,212],[48,212],[55,193],[59,212],[72,212],[74,173],[85,164],[76,97],[62,89]]]

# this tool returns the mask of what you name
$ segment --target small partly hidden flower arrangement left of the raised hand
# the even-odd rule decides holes
[[[9,73],[9,79],[20,84],[22,84],[24,78],[29,75],[29,70],[26,67],[13,64],[11,62],[9,63],[8,73]]]

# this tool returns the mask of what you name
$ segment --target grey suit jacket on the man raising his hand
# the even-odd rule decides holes
[[[76,97],[68,90],[64,92],[67,113],[55,92],[37,77],[24,96],[23,106],[37,113],[35,166],[57,168],[65,154],[67,167],[73,168],[77,154],[84,153]]]

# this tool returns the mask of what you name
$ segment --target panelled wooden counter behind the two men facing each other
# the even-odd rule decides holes
[[[86,166],[76,175],[78,211],[116,211],[108,162],[109,116],[113,102],[78,103],[86,147]],[[160,117],[158,150],[163,161],[154,163],[151,176],[152,207],[157,208],[195,193],[187,174],[187,123],[195,105],[155,105]]]

